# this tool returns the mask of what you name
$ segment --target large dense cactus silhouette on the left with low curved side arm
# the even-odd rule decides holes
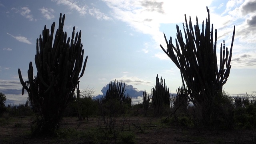
[[[62,114],[74,96],[74,90],[84,74],[88,58],[86,56],[82,66],[84,58],[81,44],[82,33],[77,32],[74,37],[74,27],[71,40],[67,39],[66,32],[63,32],[64,20],[65,14],[62,17],[60,13],[59,27],[55,37],[55,22],[53,22],[51,31],[44,26],[42,36],[40,35],[40,38],[36,40],[37,75],[33,76],[32,62],[29,63],[28,81],[24,82],[20,69],[18,69],[23,86],[22,95],[24,90],[27,90],[31,103],[42,117],[41,127],[44,134],[52,134],[59,128]]]

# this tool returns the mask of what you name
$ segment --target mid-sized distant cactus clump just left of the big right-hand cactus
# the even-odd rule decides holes
[[[165,79],[161,77],[160,82],[158,75],[156,76],[156,86],[151,89],[152,103],[154,106],[155,115],[160,114],[160,110],[163,105],[170,106],[170,91],[165,84]]]

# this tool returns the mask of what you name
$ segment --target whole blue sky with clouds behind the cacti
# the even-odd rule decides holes
[[[191,16],[192,24],[197,16],[202,29],[206,6],[218,31],[217,57],[223,40],[230,48],[236,26],[232,68],[223,89],[230,96],[255,95],[255,0],[0,0],[0,92],[6,95],[6,104],[25,103],[28,95],[22,96],[18,68],[27,80],[29,62],[35,67],[36,38],[44,25],[58,24],[62,13],[69,37],[73,26],[76,32],[82,30],[88,61],[81,91],[93,90],[93,96],[100,96],[110,81],[122,80],[132,101],[140,102],[144,90],[151,93],[158,74],[176,93],[182,85],[180,71],[159,45],[166,48],[164,34],[174,42],[176,24],[182,28],[184,14]]]

